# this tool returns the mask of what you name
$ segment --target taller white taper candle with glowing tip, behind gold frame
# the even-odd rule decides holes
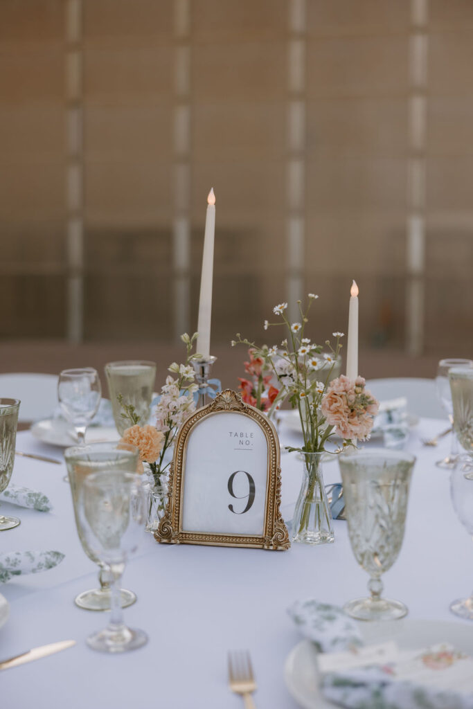
[[[210,356],[210,325],[212,318],[213,242],[215,240],[215,194],[213,187],[207,197],[204,255],[202,256],[201,294],[199,298],[199,321],[197,352]]]

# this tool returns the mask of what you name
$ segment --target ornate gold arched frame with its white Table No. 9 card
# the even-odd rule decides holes
[[[277,433],[226,389],[180,428],[158,542],[289,549]]]

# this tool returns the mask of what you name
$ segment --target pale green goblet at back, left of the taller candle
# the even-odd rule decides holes
[[[118,395],[123,396],[123,403],[134,406],[140,417],[140,424],[148,423],[151,413],[152,392],[155,387],[155,362],[127,360],[125,362],[108,362],[105,365],[108,382],[108,393],[113,411],[113,420],[120,435],[130,423],[123,418],[123,409],[118,402]]]

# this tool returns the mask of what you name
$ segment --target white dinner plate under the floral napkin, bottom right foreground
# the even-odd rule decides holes
[[[360,623],[367,644],[394,640],[401,649],[421,649],[438,642],[450,642],[473,656],[472,626],[445,620],[394,620],[389,623]],[[284,680],[289,693],[304,709],[333,709],[318,690],[317,652],[310,640],[302,640],[289,653]]]

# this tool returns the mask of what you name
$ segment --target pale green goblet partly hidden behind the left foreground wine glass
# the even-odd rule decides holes
[[[79,608],[86,610],[110,610],[111,608],[111,572],[108,566],[101,562],[99,556],[94,554],[93,549],[87,545],[87,538],[82,534],[82,526],[79,520],[79,495],[84,484],[84,480],[89,475],[111,470],[125,471],[135,474],[138,469],[138,448],[127,443],[91,443],[85,446],[74,446],[65,450],[65,459],[69,482],[71,484],[72,504],[74,506],[74,516],[77,525],[77,532],[84,552],[91,561],[99,564],[99,584],[100,588],[92,588],[89,591],[82,591],[74,599]],[[135,603],[136,596],[133,591],[122,588],[121,591],[122,608]]]

